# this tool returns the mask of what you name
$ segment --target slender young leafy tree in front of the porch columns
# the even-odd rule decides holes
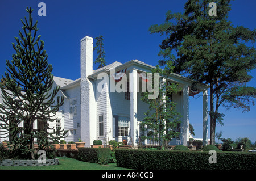
[[[148,99],[149,92],[142,92],[141,96],[141,100],[146,102],[149,107],[147,112],[144,113],[146,117],[140,123],[140,127],[146,128],[147,135],[141,138],[142,140],[152,140],[158,146],[164,147],[168,145],[172,138],[180,134],[177,127],[179,127],[181,116],[176,109],[176,103],[172,101],[172,94],[180,89],[177,84],[170,84],[167,81],[172,68],[169,64],[165,69],[160,69],[159,66],[152,69],[152,80],[154,80],[154,73],[160,75],[158,80],[159,96],[155,99]]]

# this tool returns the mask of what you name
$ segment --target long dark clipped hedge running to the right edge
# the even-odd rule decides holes
[[[137,170],[251,170],[256,154],[217,152],[217,163],[209,163],[208,151],[116,150],[118,167]]]

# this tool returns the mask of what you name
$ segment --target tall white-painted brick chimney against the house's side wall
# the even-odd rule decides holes
[[[85,147],[90,147],[96,139],[96,100],[93,80],[88,75],[93,73],[93,38],[85,36],[81,39],[81,140]]]

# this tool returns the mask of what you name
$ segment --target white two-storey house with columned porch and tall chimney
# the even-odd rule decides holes
[[[148,106],[140,99],[143,77],[138,75],[151,72],[154,68],[138,60],[121,64],[113,62],[103,68],[93,70],[93,39],[85,36],[81,39],[81,78],[74,80],[54,77],[55,86],[60,86],[58,96],[64,96],[64,104],[57,112],[57,121],[53,126],[61,126],[68,130],[65,140],[77,142],[79,138],[89,147],[93,140],[102,142],[123,138],[129,145],[138,145],[140,134],[139,122],[144,118]],[[104,76],[103,76],[104,75]],[[128,92],[113,90],[119,81],[127,78]],[[105,83],[102,80],[105,79]],[[180,136],[173,138],[170,145],[188,145],[189,138],[189,94],[192,94],[191,79],[172,74],[167,81],[178,83],[183,91],[172,95],[181,113]],[[203,92],[203,145],[207,145],[207,85],[197,85],[197,91]],[[1,98],[0,98],[1,99]],[[1,140],[0,140],[1,141]],[[144,141],[143,144],[150,144]]]

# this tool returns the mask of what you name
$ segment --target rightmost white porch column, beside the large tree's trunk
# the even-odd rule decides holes
[[[203,91],[203,146],[208,145],[208,94]]]

